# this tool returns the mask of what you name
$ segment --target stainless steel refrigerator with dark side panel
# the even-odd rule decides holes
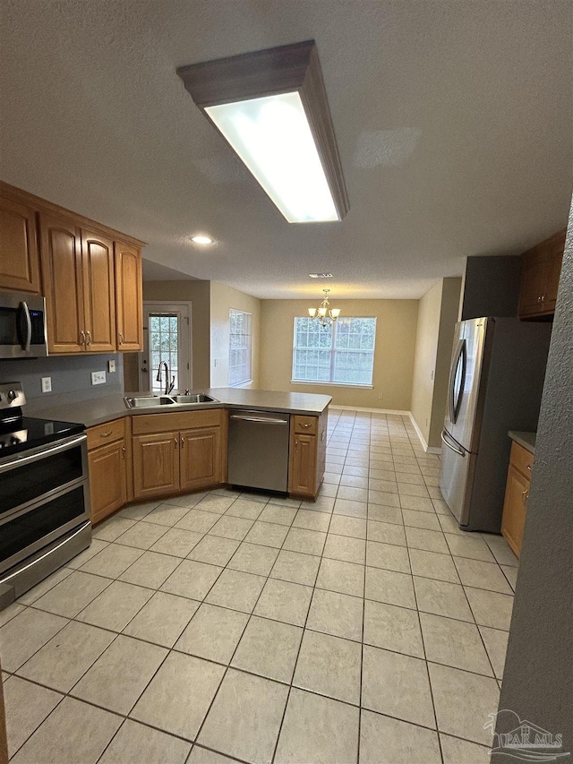
[[[508,431],[537,429],[551,330],[517,318],[456,325],[440,490],[460,528],[500,533]]]

